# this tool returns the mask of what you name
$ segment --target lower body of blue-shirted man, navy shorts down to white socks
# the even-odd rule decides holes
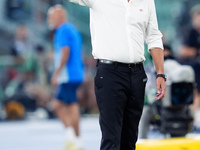
[[[61,84],[56,97],[62,101],[54,101],[54,110],[66,127],[66,149],[82,147],[79,136],[79,107],[76,97],[79,85],[80,83]]]

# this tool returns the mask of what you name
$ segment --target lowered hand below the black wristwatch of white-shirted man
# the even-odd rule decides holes
[[[157,87],[157,94],[156,94],[156,100],[160,100],[165,96],[165,80],[162,77],[158,77],[156,80],[156,87]]]

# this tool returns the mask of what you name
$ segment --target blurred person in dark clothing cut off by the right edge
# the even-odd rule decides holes
[[[200,5],[194,6],[190,13],[193,26],[184,37],[179,61],[181,64],[192,66],[195,71],[197,90],[195,92],[194,110],[197,110],[200,105]]]

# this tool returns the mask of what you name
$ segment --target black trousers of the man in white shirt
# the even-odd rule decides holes
[[[143,65],[97,64],[100,150],[135,150],[147,76]]]

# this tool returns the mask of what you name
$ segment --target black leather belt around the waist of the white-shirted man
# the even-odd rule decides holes
[[[140,67],[143,65],[142,62],[137,62],[137,63],[121,63],[121,62],[117,62],[117,61],[111,61],[111,60],[106,60],[106,59],[98,59],[97,61],[100,64],[112,64],[115,66],[124,66],[124,67],[128,67],[128,68],[133,68],[133,67]]]

